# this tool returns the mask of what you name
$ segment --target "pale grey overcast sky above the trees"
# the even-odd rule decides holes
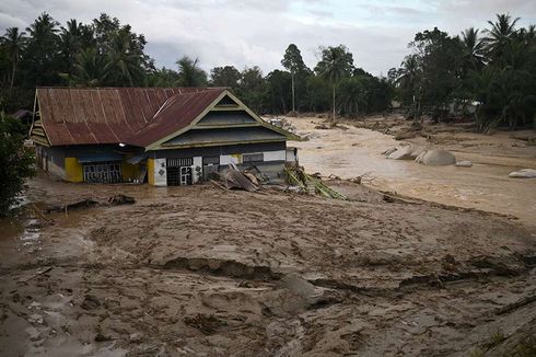
[[[378,76],[399,66],[416,32],[483,28],[503,12],[536,23],[536,0],[1,0],[0,30],[25,28],[43,11],[62,24],[116,16],[145,35],[159,67],[188,55],[206,70],[259,66],[265,74],[281,67],[291,43],[311,68],[319,45],[345,44],[356,66]]]

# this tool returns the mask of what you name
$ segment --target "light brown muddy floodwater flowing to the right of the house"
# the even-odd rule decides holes
[[[413,161],[387,160],[381,152],[400,143],[391,135],[342,125],[342,128],[315,129],[318,118],[289,118],[298,134],[308,141],[292,142],[300,149],[300,163],[307,172],[341,178],[363,175],[374,188],[396,192],[444,205],[477,208],[515,216],[536,222],[536,180],[508,175],[520,169],[536,169],[536,147],[509,138],[462,134],[442,147],[458,161],[470,160],[473,168],[426,166]],[[346,129],[345,129],[346,128]],[[424,139],[410,140],[433,147]],[[516,142],[517,141],[517,142]]]

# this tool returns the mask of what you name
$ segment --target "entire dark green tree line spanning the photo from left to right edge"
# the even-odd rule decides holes
[[[354,117],[380,113],[397,100],[416,119],[444,120],[453,112],[471,117],[477,129],[535,125],[535,26],[498,14],[488,28],[451,36],[434,27],[416,34],[411,54],[386,78],[358,68],[343,45],[319,47],[308,68],[296,45],[282,54],[283,69],[229,65],[206,72],[195,57],[175,69],[156,68],[147,41],[128,24],[103,13],[90,23],[61,25],[40,14],[24,31],[0,38],[0,110],[31,108],[37,85],[229,87],[260,114],[330,112]],[[478,105],[476,112],[470,107]]]

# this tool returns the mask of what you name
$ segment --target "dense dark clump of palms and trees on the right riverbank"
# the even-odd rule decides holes
[[[415,118],[441,120],[454,108],[474,117],[479,131],[536,128],[536,27],[517,27],[518,20],[498,14],[488,28],[456,36],[436,27],[419,32],[412,53],[388,72],[396,99]]]

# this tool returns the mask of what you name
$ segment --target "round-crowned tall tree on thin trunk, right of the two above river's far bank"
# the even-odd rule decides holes
[[[335,88],[337,83],[350,74],[353,69],[353,57],[343,45],[322,49],[322,60],[316,66],[316,71],[331,84],[333,120],[335,123],[336,102]]]

